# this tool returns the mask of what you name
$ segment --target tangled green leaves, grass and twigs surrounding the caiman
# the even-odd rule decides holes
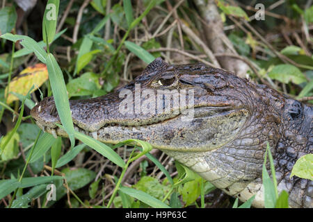
[[[235,58],[250,67],[248,76],[312,103],[309,27],[313,6],[288,1],[274,7],[275,1],[267,1],[266,20],[255,21],[255,8],[248,1],[216,2],[225,33],[234,44]],[[201,28],[205,19],[196,5],[197,1],[38,1],[30,15],[23,15],[28,17],[19,17],[24,19],[21,25],[18,4],[3,4],[1,207],[239,206],[238,198],[224,195],[220,203],[207,198],[223,197],[223,193],[184,165],[152,151],[147,142],[129,139],[115,146],[103,144],[75,131],[72,123],[68,99],[112,92],[158,56],[172,63],[214,64],[197,37],[205,35]],[[43,11],[40,8],[45,12],[38,18]],[[289,33],[276,37],[275,29],[282,21]],[[266,39],[262,37],[265,34]],[[221,55],[215,52],[213,56]],[[59,126],[70,139],[42,132],[29,116],[35,103],[52,95],[61,118]],[[266,170],[267,154],[272,178]],[[312,162],[312,154],[301,157],[290,176],[312,180]],[[262,176],[265,207],[288,207],[287,192],[278,194],[269,146]],[[52,200],[47,189],[51,184],[56,187]],[[250,207],[254,199],[252,196],[239,208]]]

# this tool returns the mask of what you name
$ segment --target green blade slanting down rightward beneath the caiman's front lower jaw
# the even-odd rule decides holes
[[[93,148],[98,153],[104,155],[104,157],[108,158],[113,163],[117,164],[118,166],[120,167],[125,166],[125,162],[118,155],[118,153],[115,153],[113,151],[113,149],[110,146],[106,146],[105,144],[102,144],[102,142],[99,142],[77,131],[75,131],[75,137],[79,139],[81,142],[83,142],[84,144],[86,144],[87,146],[90,146],[90,148]]]

